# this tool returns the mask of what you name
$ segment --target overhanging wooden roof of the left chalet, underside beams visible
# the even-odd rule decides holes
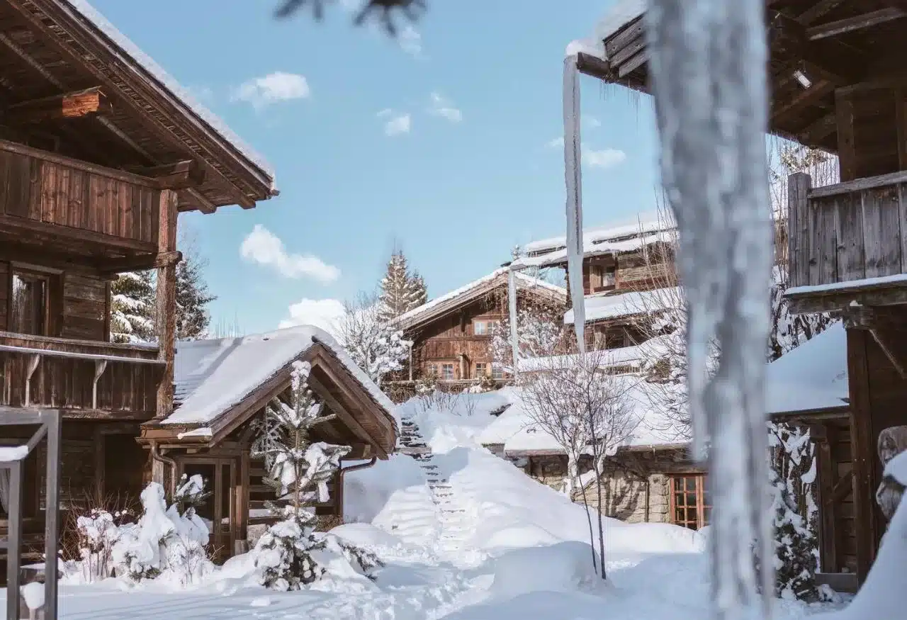
[[[258,158],[102,25],[66,0],[0,0],[0,137],[140,174],[192,161],[204,179],[180,192],[184,211],[252,208],[277,194]],[[22,121],[11,112],[84,91],[104,98],[96,113]]]

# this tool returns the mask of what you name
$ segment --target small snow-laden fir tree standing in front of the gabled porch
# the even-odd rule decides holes
[[[308,389],[308,363],[293,366],[289,402],[275,399],[268,405],[264,428],[253,445],[253,454],[263,456],[266,481],[281,497],[269,506],[280,520],[258,539],[253,554],[263,586],[298,590],[322,576],[323,553],[339,553],[367,573],[380,566],[377,557],[315,533],[315,502],[329,499],[327,483],[350,448],[311,440],[317,424],[332,420],[322,403]]]

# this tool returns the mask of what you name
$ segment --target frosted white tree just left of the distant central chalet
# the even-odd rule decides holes
[[[385,318],[375,295],[360,295],[348,303],[337,325],[337,337],[359,368],[381,385],[387,373],[403,370],[412,343]]]

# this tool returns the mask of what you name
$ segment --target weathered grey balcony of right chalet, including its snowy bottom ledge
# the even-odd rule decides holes
[[[907,171],[811,188],[788,179],[795,313],[907,304]]]

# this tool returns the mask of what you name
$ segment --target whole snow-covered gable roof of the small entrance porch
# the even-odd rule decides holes
[[[310,389],[336,414],[317,425],[316,441],[352,446],[350,459],[385,459],[395,448],[394,404],[321,330],[293,327],[177,347],[179,406],[168,418],[143,425],[141,441],[218,446],[287,392],[293,364],[301,361],[311,364]]]

